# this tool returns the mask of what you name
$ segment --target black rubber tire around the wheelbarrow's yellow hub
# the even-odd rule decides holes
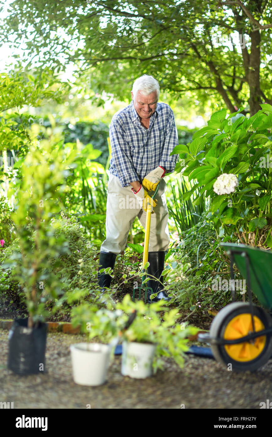
[[[214,317],[210,326],[210,337],[222,339],[224,338],[224,332],[228,323],[231,322],[234,317],[239,314],[250,314],[250,307],[248,303],[234,302],[226,305],[221,309]],[[262,308],[253,305],[253,315],[257,316],[261,320],[265,328],[272,326],[272,318]],[[255,371],[262,367],[272,355],[272,335],[265,337],[265,346],[260,354],[250,361],[236,361],[229,356],[224,345],[211,344],[211,350],[214,358],[224,365],[231,364],[231,369],[234,371]]]

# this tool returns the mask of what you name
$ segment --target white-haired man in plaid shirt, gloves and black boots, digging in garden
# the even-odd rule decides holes
[[[158,103],[158,81],[144,75],[135,80],[129,106],[114,114],[110,123],[110,176],[107,194],[106,239],[100,248],[99,270],[111,267],[127,243],[134,219],[145,227],[147,201],[153,207],[148,248],[148,286],[157,296],[152,302],[170,298],[163,290],[162,271],[169,246],[168,209],[165,199],[165,173],[172,173],[178,155],[169,156],[178,144],[172,109]],[[158,193],[151,199],[150,191]],[[124,209],[125,205],[125,209]],[[157,281],[157,279],[162,282]],[[98,274],[102,292],[110,287],[109,274]],[[151,292],[148,292],[148,302]]]

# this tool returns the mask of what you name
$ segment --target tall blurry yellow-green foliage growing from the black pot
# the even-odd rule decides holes
[[[32,135],[35,135],[34,127]],[[75,153],[63,153],[59,141],[56,135],[49,141],[43,140],[39,147],[31,146],[21,166],[22,183],[17,192],[15,212],[11,215],[19,251],[7,261],[7,267],[12,267],[14,279],[25,293],[29,326],[45,316],[46,299],[41,299],[43,290],[57,298],[59,281],[49,271],[50,259],[57,260],[67,252],[64,236],[54,236],[49,226],[52,216],[59,212],[59,194],[68,190],[65,185],[67,167],[75,159]]]

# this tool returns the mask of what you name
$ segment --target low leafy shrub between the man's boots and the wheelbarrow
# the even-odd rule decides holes
[[[182,311],[220,309],[231,302],[229,289],[213,287],[219,277],[229,281],[230,260],[220,246],[213,222],[207,222],[204,212],[200,221],[181,235],[181,243],[169,250],[164,271],[165,290],[173,295],[171,303]],[[234,265],[234,279],[242,279]],[[214,289],[213,289],[214,288]],[[242,299],[240,291],[235,292]]]

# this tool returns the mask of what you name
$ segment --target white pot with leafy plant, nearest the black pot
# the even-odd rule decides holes
[[[74,382],[79,385],[101,385],[106,381],[110,353],[114,353],[118,334],[127,316],[120,309],[82,303],[72,309],[72,324],[80,326],[86,334],[86,342],[70,346]],[[98,338],[99,342],[91,343]],[[113,341],[114,340],[114,341]]]

